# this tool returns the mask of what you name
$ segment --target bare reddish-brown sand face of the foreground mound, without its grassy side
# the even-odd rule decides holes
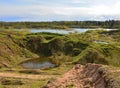
[[[106,88],[104,77],[98,71],[100,67],[97,64],[78,64],[43,88]]]

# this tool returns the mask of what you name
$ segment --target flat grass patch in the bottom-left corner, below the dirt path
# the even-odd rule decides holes
[[[40,88],[48,82],[49,79],[29,80],[17,78],[1,78],[0,88]]]

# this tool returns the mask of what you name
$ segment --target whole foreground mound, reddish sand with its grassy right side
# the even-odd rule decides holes
[[[76,65],[43,88],[119,88],[120,70],[97,64]]]

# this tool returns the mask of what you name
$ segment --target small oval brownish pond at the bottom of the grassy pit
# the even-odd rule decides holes
[[[56,65],[50,61],[30,60],[23,62],[21,66],[26,69],[46,69],[46,68],[53,68]]]

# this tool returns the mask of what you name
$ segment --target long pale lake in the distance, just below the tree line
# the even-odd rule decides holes
[[[101,29],[90,29],[90,28],[73,28],[71,30],[59,30],[59,29],[31,29],[30,32],[32,33],[37,33],[37,32],[50,32],[50,33],[58,33],[58,34],[69,34],[69,33],[74,33],[74,32],[78,32],[78,33],[83,33],[86,32],[88,30],[101,30]],[[114,30],[114,29],[102,29],[102,30]]]

